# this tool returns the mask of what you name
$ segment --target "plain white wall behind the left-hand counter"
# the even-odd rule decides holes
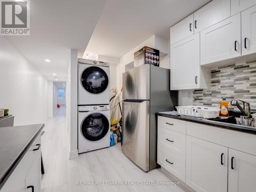
[[[0,36],[0,108],[8,108],[15,125],[45,123],[48,82],[10,42]]]

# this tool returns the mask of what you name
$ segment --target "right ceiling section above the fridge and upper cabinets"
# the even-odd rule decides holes
[[[169,39],[169,27],[209,0],[108,0],[86,53],[120,58],[158,34]]]

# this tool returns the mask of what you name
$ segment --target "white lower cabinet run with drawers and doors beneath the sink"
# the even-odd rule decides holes
[[[157,163],[197,192],[255,192],[255,144],[253,134],[158,116]]]

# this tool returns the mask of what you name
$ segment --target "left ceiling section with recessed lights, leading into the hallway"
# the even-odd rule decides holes
[[[104,5],[105,0],[31,0],[30,36],[7,38],[47,79],[56,73],[66,81],[70,49],[86,49]]]

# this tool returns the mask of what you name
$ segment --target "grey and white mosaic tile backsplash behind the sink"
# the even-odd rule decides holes
[[[241,99],[256,110],[256,61],[229,65],[211,70],[211,88],[195,90],[193,104],[215,106],[225,96],[227,101]],[[229,104],[229,109],[238,110]]]

